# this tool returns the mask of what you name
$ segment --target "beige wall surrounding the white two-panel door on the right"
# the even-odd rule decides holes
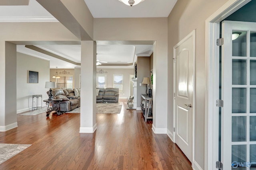
[[[205,106],[205,20],[228,0],[178,0],[168,17],[168,131],[173,129],[173,47],[192,30],[196,30],[195,66],[195,156],[197,164],[204,169],[204,106]]]

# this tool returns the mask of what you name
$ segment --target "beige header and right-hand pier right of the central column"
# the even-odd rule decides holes
[[[94,18],[94,40],[156,41],[154,46],[153,130],[167,132],[168,18]],[[165,107],[163,107],[165,106]]]

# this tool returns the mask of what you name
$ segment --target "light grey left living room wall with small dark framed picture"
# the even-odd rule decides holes
[[[28,83],[28,70],[38,72],[38,83]],[[42,100],[48,98],[46,92],[49,89],[44,87],[49,81],[49,74],[50,61],[17,53],[17,113],[32,109],[33,94],[42,94]],[[41,106],[41,98],[38,101]]]

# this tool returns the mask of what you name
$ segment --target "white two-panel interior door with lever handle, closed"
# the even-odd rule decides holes
[[[174,46],[174,141],[192,162],[194,34]]]

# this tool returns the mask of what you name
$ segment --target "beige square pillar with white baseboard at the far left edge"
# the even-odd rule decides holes
[[[16,92],[16,45],[5,42],[1,44],[1,89],[0,131],[8,131],[18,126],[17,123],[17,92]],[[4,57],[5,56],[5,57]]]

